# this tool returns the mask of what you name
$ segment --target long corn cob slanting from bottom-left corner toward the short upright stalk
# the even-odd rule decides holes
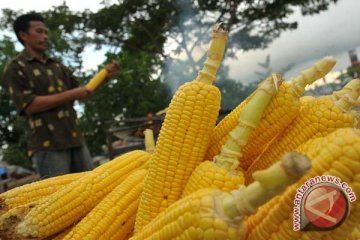
[[[16,226],[19,237],[51,236],[84,217],[101,199],[150,157],[135,150],[103,164],[43,198]]]

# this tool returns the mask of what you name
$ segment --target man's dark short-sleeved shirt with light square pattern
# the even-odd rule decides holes
[[[43,63],[23,51],[6,67],[4,82],[18,112],[28,122],[29,151],[83,145],[73,102],[32,115],[24,111],[36,96],[57,94],[78,86],[63,64],[50,58]]]

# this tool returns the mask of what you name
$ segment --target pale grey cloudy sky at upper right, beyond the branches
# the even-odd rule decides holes
[[[256,78],[254,71],[262,70],[257,63],[264,62],[268,54],[274,71],[289,63],[296,64],[285,74],[287,79],[328,55],[337,61],[334,71],[345,69],[350,65],[348,50],[356,49],[358,59],[360,57],[359,9],[359,0],[339,0],[327,11],[314,16],[295,14],[291,19],[298,21],[296,30],[283,32],[265,50],[238,53],[237,60],[227,61],[230,76],[244,82],[252,81]]]

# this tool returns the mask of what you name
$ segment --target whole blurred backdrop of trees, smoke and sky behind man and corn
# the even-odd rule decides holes
[[[142,146],[142,131],[160,129],[172,94],[202,68],[211,27],[224,22],[229,42],[216,85],[225,116],[272,72],[287,80],[331,55],[333,71],[307,89],[329,94],[360,74],[357,0],[1,0],[0,72],[22,47],[14,19],[29,11],[46,18],[49,55],[81,83],[111,60],[120,74],[76,107],[94,157],[111,159]],[[32,169],[25,122],[0,75],[0,159]],[[100,160],[99,160],[100,161]]]

